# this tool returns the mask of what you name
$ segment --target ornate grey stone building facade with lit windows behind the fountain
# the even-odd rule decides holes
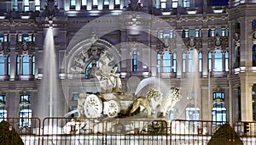
[[[77,109],[79,93],[99,92],[94,72],[108,53],[124,92],[134,94],[151,77],[158,86],[181,88],[172,119],[256,120],[255,14],[250,0],[1,2],[0,117]],[[41,93],[49,29],[58,98]]]

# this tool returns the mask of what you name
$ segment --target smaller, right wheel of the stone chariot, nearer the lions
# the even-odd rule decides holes
[[[108,114],[108,117],[116,117],[120,112],[119,103],[117,103],[115,100],[108,101],[108,109],[106,110],[106,113]]]

